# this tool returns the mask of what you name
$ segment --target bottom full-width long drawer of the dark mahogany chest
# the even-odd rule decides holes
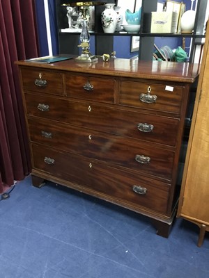
[[[40,145],[32,145],[32,149],[33,168],[36,170],[75,183],[82,186],[79,188],[82,191],[111,202],[123,202],[136,210],[143,206],[159,213],[167,212],[170,186],[166,183],[93,163],[91,159],[81,160],[79,156]]]

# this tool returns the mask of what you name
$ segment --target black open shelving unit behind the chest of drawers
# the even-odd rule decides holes
[[[139,40],[139,60],[153,60],[153,49],[155,38],[180,39],[185,38],[185,41],[191,40],[189,51],[189,62],[194,61],[196,43],[201,42],[205,38],[205,17],[207,0],[196,0],[196,19],[194,23],[194,33],[150,33],[150,15],[157,10],[157,0],[142,0],[141,1],[141,30],[139,33],[115,32],[103,33],[101,24],[101,13],[104,10],[102,6],[95,6],[95,31],[90,32],[90,35],[95,37],[95,55],[103,53],[111,53],[114,51],[114,37],[140,37]],[[107,0],[111,3],[112,0]],[[59,18],[59,50],[60,53],[79,54],[77,48],[77,40],[79,40],[79,32],[65,32],[63,29],[68,27],[66,23],[65,11],[61,9],[59,0],[56,1],[58,18]],[[72,40],[69,40],[73,38]],[[76,38],[77,37],[77,38]],[[76,39],[75,39],[76,38]],[[185,42],[184,42],[185,43]]]

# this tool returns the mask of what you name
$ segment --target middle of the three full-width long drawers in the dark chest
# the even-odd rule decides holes
[[[33,142],[171,180],[174,151],[48,121],[29,120],[29,131]]]

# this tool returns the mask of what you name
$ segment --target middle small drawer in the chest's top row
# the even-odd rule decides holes
[[[115,79],[66,74],[66,91],[70,97],[114,104]]]

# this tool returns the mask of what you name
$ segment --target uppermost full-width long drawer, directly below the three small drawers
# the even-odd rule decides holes
[[[37,97],[32,94],[25,94],[25,97],[28,115],[119,136],[176,146],[178,118],[148,115],[50,97]]]

